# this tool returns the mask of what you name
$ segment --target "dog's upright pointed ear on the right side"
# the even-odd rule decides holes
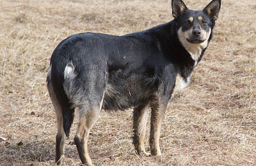
[[[218,14],[220,11],[221,0],[213,0],[209,3],[203,11],[206,11],[207,14],[211,17],[212,20],[218,19]]]

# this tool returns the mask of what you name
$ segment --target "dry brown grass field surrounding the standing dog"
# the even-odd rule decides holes
[[[184,0],[193,10],[210,1]],[[56,116],[45,79],[61,40],[172,19],[171,0],[0,0],[0,165],[54,165]],[[223,0],[191,84],[168,106],[161,157],[136,155],[131,110],[102,111],[89,142],[95,165],[256,165],[255,19],[255,0]],[[76,120],[64,165],[81,165],[75,133]]]

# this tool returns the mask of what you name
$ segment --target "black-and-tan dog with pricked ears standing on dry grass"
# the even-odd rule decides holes
[[[88,139],[100,110],[133,108],[133,144],[138,155],[159,156],[159,137],[170,98],[189,84],[218,19],[221,0],[203,10],[189,10],[172,0],[174,19],[146,31],[113,36],[74,34],[52,53],[47,88],[56,111],[56,163],[63,163],[64,144],[77,108],[74,138],[83,164],[93,165]],[[150,118],[150,153],[144,139]]]

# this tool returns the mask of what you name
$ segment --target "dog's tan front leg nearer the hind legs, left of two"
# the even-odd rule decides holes
[[[134,108],[133,112],[133,144],[138,155],[150,155],[146,153],[144,141],[148,120],[149,104]]]

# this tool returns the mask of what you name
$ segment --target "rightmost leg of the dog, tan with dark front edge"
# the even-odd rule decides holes
[[[166,111],[165,103],[152,103],[150,105],[151,112],[151,127],[150,127],[150,153],[152,156],[160,156],[161,151],[159,147],[159,138],[161,125],[164,117],[164,113]]]

